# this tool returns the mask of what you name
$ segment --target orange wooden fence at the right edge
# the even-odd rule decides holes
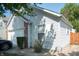
[[[79,33],[70,32],[70,45],[79,45]]]

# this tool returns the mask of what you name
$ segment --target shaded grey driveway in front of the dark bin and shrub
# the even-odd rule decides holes
[[[35,53],[32,48],[27,48],[27,49],[18,49],[18,48],[13,48],[8,51],[4,52],[5,54],[13,54],[15,56],[46,56],[47,52],[42,51],[41,53]]]

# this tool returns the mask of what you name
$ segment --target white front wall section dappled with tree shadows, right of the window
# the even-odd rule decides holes
[[[45,43],[44,48],[47,49],[55,49],[55,42],[58,38],[58,22],[55,19],[51,19],[50,17],[45,17],[46,25],[45,25]]]

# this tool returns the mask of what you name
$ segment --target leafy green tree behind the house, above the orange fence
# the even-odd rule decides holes
[[[61,13],[70,21],[73,28],[79,32],[79,4],[65,4],[65,6],[61,9]]]

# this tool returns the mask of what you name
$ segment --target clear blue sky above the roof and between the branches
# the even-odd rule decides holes
[[[42,3],[42,4],[38,4],[38,6],[51,10],[51,11],[55,11],[60,13],[61,8],[64,7],[64,3]],[[6,12],[5,13],[6,16],[10,16],[10,12]]]

